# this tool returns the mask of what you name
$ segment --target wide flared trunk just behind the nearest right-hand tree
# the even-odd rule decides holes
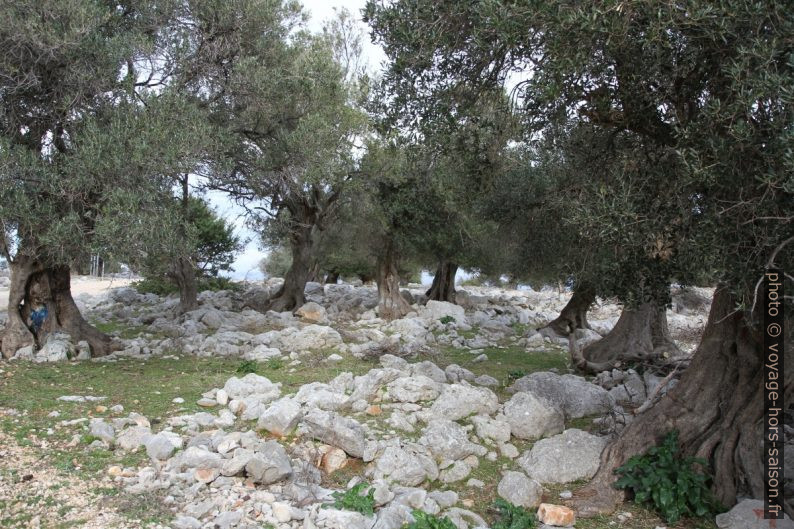
[[[585,347],[574,363],[579,369],[598,373],[627,362],[658,360],[664,353],[677,355],[680,351],[670,337],[665,308],[650,301],[624,308],[609,334]]]

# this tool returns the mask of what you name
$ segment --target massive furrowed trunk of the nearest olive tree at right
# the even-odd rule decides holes
[[[789,317],[785,332],[791,327]],[[785,355],[785,362],[794,361],[791,347]],[[718,289],[703,338],[681,380],[607,446],[598,473],[573,500],[579,514],[612,512],[623,498],[612,487],[614,470],[674,429],[685,455],[710,463],[713,492],[724,505],[734,505],[737,496],[762,498],[763,366],[760,326],[749,325],[736,311],[728,289]],[[784,401],[791,402],[794,370],[782,377]]]

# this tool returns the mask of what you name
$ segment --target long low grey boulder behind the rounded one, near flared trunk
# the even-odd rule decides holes
[[[604,388],[576,375],[548,371],[532,373],[516,380],[509,391],[525,391],[553,402],[560,406],[566,419],[603,414],[613,406]]]

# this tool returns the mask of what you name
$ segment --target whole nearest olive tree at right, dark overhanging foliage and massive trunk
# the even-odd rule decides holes
[[[522,71],[515,93],[527,133],[571,119],[615,138],[603,189],[566,212],[619,248],[629,279],[601,277],[599,287],[639,301],[666,291],[671,269],[707,270],[718,283],[689,368],[604,451],[580,513],[613,508],[613,469],[674,428],[685,453],[707,459],[724,503],[763,494],[758,289],[765,268],[794,262],[787,6],[371,1],[367,18],[392,59],[395,113],[406,121],[446,112],[455,86]],[[781,380],[787,397],[792,376]]]

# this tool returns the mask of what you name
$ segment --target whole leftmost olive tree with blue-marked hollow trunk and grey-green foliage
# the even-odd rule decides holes
[[[138,83],[133,65],[157,54],[172,7],[0,5],[0,249],[12,283],[6,357],[55,331],[107,353],[110,339],[71,298],[71,264],[91,253],[133,262],[165,245],[168,175],[196,163],[203,120],[178,94]],[[41,309],[44,325],[28,327]]]

